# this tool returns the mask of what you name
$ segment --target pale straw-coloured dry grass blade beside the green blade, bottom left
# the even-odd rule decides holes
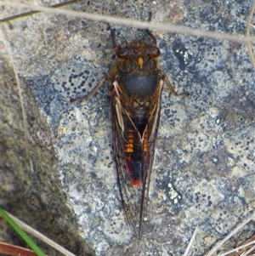
[[[63,253],[64,255],[67,256],[76,256],[75,254],[67,251],[64,247],[59,246],[59,244],[57,244],[56,242],[53,242],[52,240],[50,240],[48,237],[43,236],[41,233],[39,233],[37,230],[34,230],[33,228],[31,228],[29,225],[26,225],[24,222],[22,222],[20,219],[15,218],[13,215],[11,215],[10,213],[8,213],[9,217],[11,217],[12,219],[14,219],[14,221],[20,225],[20,228],[22,230],[25,230],[27,233],[31,234],[32,236],[37,237],[38,239],[40,239],[42,242],[47,243],[49,246],[54,247],[57,251],[59,251],[60,253]]]

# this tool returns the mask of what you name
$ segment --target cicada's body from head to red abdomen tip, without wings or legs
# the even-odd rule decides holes
[[[161,69],[157,59],[160,50],[154,44],[136,40],[126,47],[115,49],[117,60],[113,68],[115,81],[120,91],[120,101],[125,124],[125,157],[127,170],[132,175],[133,185],[140,185],[144,178],[144,164],[148,151],[148,124],[160,97]]]

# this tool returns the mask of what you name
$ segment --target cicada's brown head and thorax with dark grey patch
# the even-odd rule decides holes
[[[144,100],[156,91],[161,73],[157,64],[160,50],[153,44],[135,40],[116,48],[114,75],[124,97]]]

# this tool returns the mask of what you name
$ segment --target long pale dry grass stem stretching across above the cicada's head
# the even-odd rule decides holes
[[[125,26],[133,26],[141,29],[150,28],[150,29],[156,29],[160,31],[174,32],[174,33],[190,35],[194,37],[208,37],[208,38],[214,38],[218,40],[228,40],[228,41],[238,42],[238,43],[248,43],[248,42],[255,43],[255,37],[244,37],[244,36],[242,37],[240,35],[229,35],[226,33],[220,33],[215,31],[201,31],[201,29],[192,29],[190,27],[185,27],[185,26],[171,26],[171,25],[166,25],[164,23],[150,23],[147,21],[123,19],[118,17],[102,15],[102,14],[90,14],[90,13],[85,13],[85,12],[83,13],[83,12],[71,11],[66,9],[53,9],[53,8],[47,8],[47,7],[31,5],[31,4],[3,2],[3,5],[12,6],[14,8],[19,7],[19,8],[25,8],[25,9],[33,9],[33,10],[53,13],[53,14],[65,14],[71,17],[80,17],[83,19],[95,20],[95,21],[105,21],[108,23],[125,25]]]

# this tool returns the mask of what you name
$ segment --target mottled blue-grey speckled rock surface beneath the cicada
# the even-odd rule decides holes
[[[151,11],[153,21],[238,37],[246,33],[250,2],[84,1],[71,9],[134,20],[146,20]],[[119,42],[144,37],[141,30],[111,26]],[[147,221],[138,240],[116,182],[107,82],[91,99],[70,103],[114,62],[107,27],[59,14],[3,26],[24,97],[29,156],[18,88],[2,44],[1,204],[77,255],[181,255],[196,225],[190,255],[203,255],[255,209],[255,71],[246,46],[153,31],[162,69],[178,92],[190,96],[163,89]],[[254,230],[253,221],[225,248]],[[20,243],[7,235],[2,239]]]

